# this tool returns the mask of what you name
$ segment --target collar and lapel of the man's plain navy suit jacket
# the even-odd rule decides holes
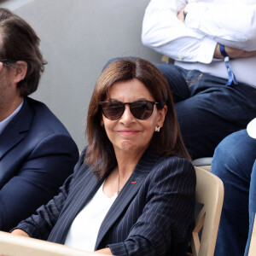
[[[4,154],[26,136],[26,132],[31,127],[32,118],[32,108],[29,107],[25,98],[19,113],[15,115],[0,135],[0,160]]]

